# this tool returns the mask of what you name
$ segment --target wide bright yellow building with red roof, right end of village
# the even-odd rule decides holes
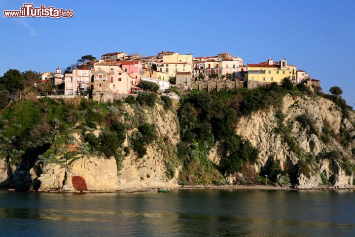
[[[248,64],[245,79],[259,82],[282,82],[284,78],[289,78],[296,82],[297,67],[287,64],[285,59],[274,62],[269,59],[267,62],[259,64]]]

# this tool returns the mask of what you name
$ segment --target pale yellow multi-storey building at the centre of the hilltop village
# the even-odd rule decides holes
[[[158,64],[158,71],[167,73],[169,77],[175,77],[177,72],[192,73],[192,54],[164,55],[163,62]]]

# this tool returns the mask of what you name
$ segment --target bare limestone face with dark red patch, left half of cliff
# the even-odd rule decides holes
[[[178,187],[180,165],[175,162],[175,147],[179,141],[179,126],[175,112],[164,110],[161,104],[154,109],[133,109],[125,105],[122,122],[131,127],[127,131],[124,146],[130,145],[129,136],[137,130],[133,123],[139,119],[156,126],[158,139],[146,147],[147,154],[138,158],[131,150],[127,156],[122,155],[120,169],[114,157],[104,158],[89,155],[77,155],[71,159],[56,157],[55,162],[42,163],[37,161],[26,175],[27,188],[38,191],[119,191],[140,190],[144,188],[175,188]],[[100,126],[93,133],[100,134]],[[79,150],[83,143],[82,137],[74,133],[75,144],[70,146],[73,151]],[[175,159],[175,160],[174,160]],[[175,162],[170,168],[168,166]],[[22,172],[22,171],[21,171]],[[9,175],[8,173],[13,173]],[[3,187],[22,189],[23,185],[14,179],[16,172],[9,172],[8,163],[0,159],[0,184]]]

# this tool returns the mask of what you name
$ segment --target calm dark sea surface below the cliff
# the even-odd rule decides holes
[[[355,236],[355,192],[1,191],[0,236]]]

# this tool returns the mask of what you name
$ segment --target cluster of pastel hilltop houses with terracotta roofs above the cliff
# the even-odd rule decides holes
[[[302,70],[287,63],[286,59],[272,59],[258,64],[243,64],[241,57],[229,53],[216,56],[193,57],[171,51],[141,57],[139,53],[106,53],[101,59],[77,65],[72,72],[62,74],[41,74],[42,81],[63,85],[64,95],[86,95],[93,93],[131,94],[139,90],[142,80],[155,82],[164,91],[171,86],[178,90],[191,90],[193,85],[209,81],[252,81],[258,86],[271,82],[282,82],[289,78],[294,83],[306,83],[310,87],[320,86],[320,81],[312,79]],[[174,84],[171,84],[175,82]]]

